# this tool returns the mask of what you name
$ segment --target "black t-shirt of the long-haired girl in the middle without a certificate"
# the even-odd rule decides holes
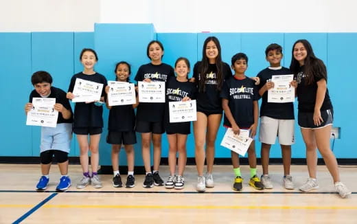
[[[200,61],[194,65],[194,78],[196,85],[199,85],[200,80]],[[223,80],[227,80],[232,76],[231,67],[227,63],[222,64]],[[206,76],[206,91],[197,93],[197,107],[205,111],[222,111],[222,100],[220,91],[217,89],[217,67],[216,64],[209,64]]]

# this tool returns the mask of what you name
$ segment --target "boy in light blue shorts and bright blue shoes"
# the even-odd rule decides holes
[[[49,182],[49,168],[51,168],[52,157],[55,157],[60,168],[60,183],[56,190],[64,191],[71,186],[68,172],[68,153],[72,139],[72,109],[66,98],[65,91],[52,87],[52,77],[46,71],[36,71],[31,77],[34,90],[30,93],[30,100],[25,104],[25,113],[31,111],[32,98],[56,98],[54,109],[58,113],[57,126],[41,127],[41,172],[42,177],[38,181],[36,189],[45,190]]]

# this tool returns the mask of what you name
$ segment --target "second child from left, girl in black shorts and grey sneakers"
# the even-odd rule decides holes
[[[71,78],[67,98],[70,100],[75,98],[73,89],[75,88],[77,78],[106,86],[106,78],[94,71],[94,65],[97,61],[97,53],[93,49],[82,49],[82,52],[80,53],[80,62],[83,65],[83,71],[75,74]],[[103,88],[100,101],[104,101],[104,95],[105,91]],[[103,108],[101,102],[76,102],[74,108],[73,132],[76,133],[78,144],[80,145],[80,164],[83,170],[83,177],[77,183],[77,188],[85,188],[89,183],[91,183],[94,188],[102,188],[102,182],[97,176],[99,165],[99,141],[103,127],[102,113]],[[91,151],[91,175],[89,174],[89,150]]]

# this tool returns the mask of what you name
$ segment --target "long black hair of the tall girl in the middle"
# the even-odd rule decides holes
[[[222,89],[223,85],[223,63],[222,63],[222,56],[221,56],[221,50],[220,50],[220,41],[218,41],[218,38],[216,36],[209,36],[206,38],[205,43],[203,43],[203,49],[202,49],[202,60],[200,63],[200,67],[198,67],[198,72],[200,74],[200,80],[198,80],[198,91],[204,92],[206,91],[206,79],[207,79],[207,72],[208,72],[208,66],[209,66],[209,60],[206,55],[206,47],[209,41],[214,41],[214,44],[216,45],[218,49],[218,56],[216,57],[216,67],[217,67],[217,89],[220,91]]]

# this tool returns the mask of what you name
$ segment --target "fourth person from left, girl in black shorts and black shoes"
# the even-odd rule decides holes
[[[135,76],[136,81],[143,82],[167,82],[168,78],[174,77],[174,69],[162,62],[163,45],[159,41],[151,41],[146,49],[146,54],[151,62],[141,65]],[[165,132],[163,115],[164,102],[141,102],[137,107],[136,131],[141,133],[141,149],[146,177],[143,188],[163,186],[163,180],[159,175],[161,159],[161,135]],[[154,145],[154,170],[150,166],[150,143]]]

